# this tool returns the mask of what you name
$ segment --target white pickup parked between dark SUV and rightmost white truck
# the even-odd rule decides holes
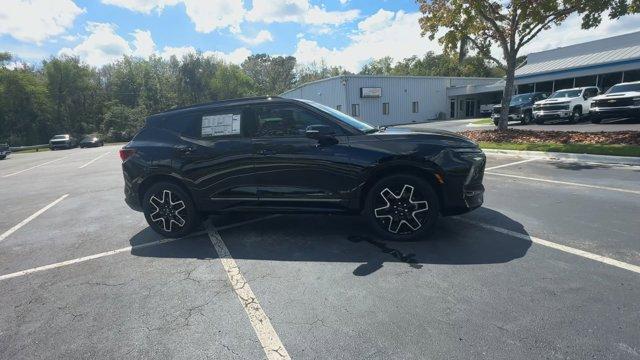
[[[563,119],[577,123],[589,115],[591,101],[600,93],[596,86],[558,90],[548,98],[533,105],[533,117],[536,124],[546,120]]]

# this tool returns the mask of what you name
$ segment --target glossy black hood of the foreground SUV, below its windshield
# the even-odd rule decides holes
[[[383,141],[415,141],[450,147],[477,147],[471,139],[451,131],[428,129],[412,130],[411,128],[388,128],[384,131],[369,134]]]

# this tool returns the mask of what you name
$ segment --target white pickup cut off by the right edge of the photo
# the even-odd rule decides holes
[[[640,118],[640,81],[620,83],[591,103],[591,122],[603,119]]]

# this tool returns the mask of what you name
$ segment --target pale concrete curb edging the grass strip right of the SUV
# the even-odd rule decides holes
[[[499,149],[482,149],[485,154],[493,155],[517,155],[526,158],[543,158],[549,160],[575,161],[585,163],[614,164],[614,165],[631,165],[640,166],[640,157],[634,156],[610,156],[610,155],[591,155],[591,154],[573,154],[558,153],[545,151],[521,151],[521,150],[499,150]]]

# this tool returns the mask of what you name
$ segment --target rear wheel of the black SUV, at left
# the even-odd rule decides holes
[[[152,185],[144,195],[142,209],[149,226],[165,237],[186,236],[200,225],[191,197],[174,183]]]

